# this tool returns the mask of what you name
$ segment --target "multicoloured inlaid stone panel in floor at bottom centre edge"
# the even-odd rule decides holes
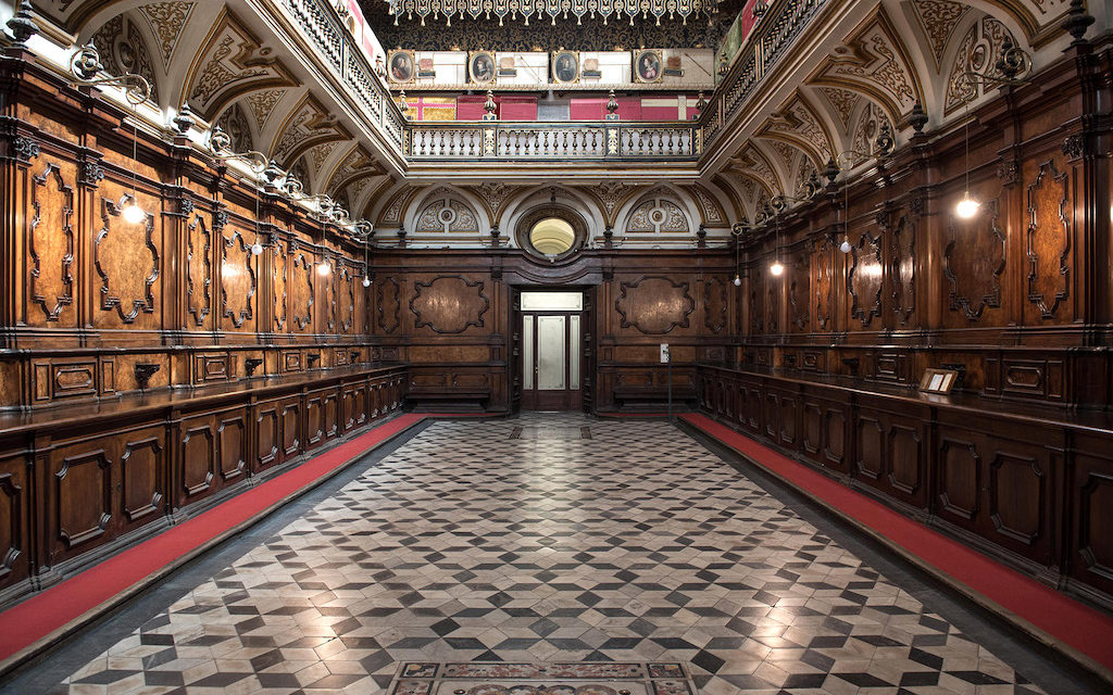
[[[696,695],[682,664],[403,664],[391,695]]]

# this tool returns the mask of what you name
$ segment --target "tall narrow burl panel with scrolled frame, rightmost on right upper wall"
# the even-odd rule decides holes
[[[1071,205],[1067,173],[1054,160],[1040,165],[1027,190],[1027,295],[1038,318],[1055,318],[1071,288]]]

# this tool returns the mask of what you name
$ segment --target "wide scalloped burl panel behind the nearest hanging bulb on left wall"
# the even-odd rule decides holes
[[[115,311],[122,324],[134,324],[141,312],[155,312],[160,261],[155,246],[155,216],[147,212],[142,222],[131,225],[120,212],[125,202],[101,198],[93,266],[100,279],[100,308]]]

